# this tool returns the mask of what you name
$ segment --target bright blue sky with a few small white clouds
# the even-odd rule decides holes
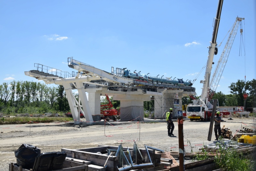
[[[24,74],[34,63],[71,73],[68,57],[108,72],[111,66],[126,67],[193,81],[207,61],[217,5],[217,0],[0,1],[0,84],[37,81]],[[217,43],[237,16],[245,18],[245,50],[238,30],[216,90],[224,94],[244,75],[246,81],[256,78],[255,0],[224,0]],[[226,41],[214,56],[216,64]],[[204,72],[193,84],[198,96]]]

